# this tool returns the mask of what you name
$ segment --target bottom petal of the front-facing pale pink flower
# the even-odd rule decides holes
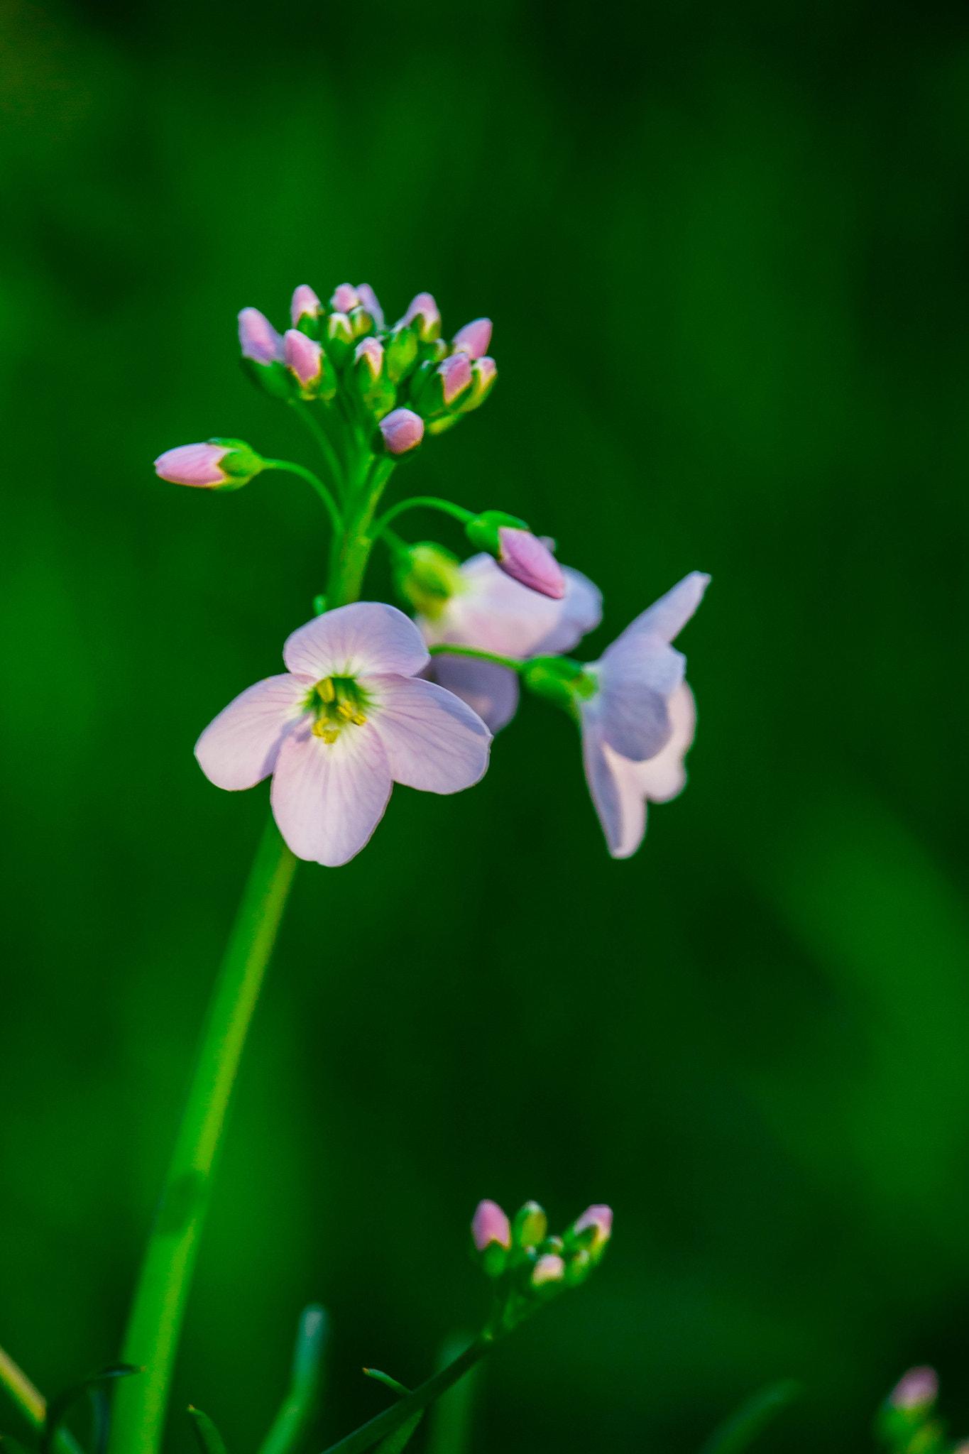
[[[369,723],[347,727],[328,743],[314,737],[307,721],[279,749],[273,814],[296,858],[338,868],[369,840],[392,787],[386,753]]]

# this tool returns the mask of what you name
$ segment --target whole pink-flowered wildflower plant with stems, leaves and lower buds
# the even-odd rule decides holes
[[[328,515],[330,553],[311,619],[282,644],[285,670],[246,686],[196,743],[202,771],[219,788],[241,791],[272,776],[272,817],[214,989],[122,1362],[48,1406],[0,1354],[0,1383],[35,1431],[41,1454],[78,1454],[64,1418],[81,1394],[94,1406],[94,1454],[160,1448],[215,1154],[298,859],[330,868],[352,859],[376,829],[395,782],[442,794],[478,782],[492,734],[514,717],[522,688],[575,723],[615,858],[641,845],[646,803],[674,797],[686,782],[696,712],[684,657],[671,643],[699,606],[708,576],[689,574],[599,660],[580,662],[567,653],[599,625],[601,593],[558,563],[548,537],[498,507],[513,502],[484,502],[479,509],[401,494],[385,503],[398,465],[418,468],[415,459],[434,436],[462,425],[495,387],[490,320],[475,318],[446,342],[430,294],[417,294],[388,324],[368,284],[340,284],[328,302],[298,286],[289,321],[280,333],[256,308],[243,308],[241,361],[256,387],[305,426],[320,473],[218,436],[174,446],[155,461],[160,478],[216,491],[261,484],[273,471],[298,475]],[[400,531],[415,507],[456,522],[469,558],[437,541],[405,539]],[[389,555],[397,605],[360,599],[375,548]],[[308,583],[308,599],[318,585]],[[267,662],[267,672],[275,664]],[[498,1339],[585,1281],[610,1234],[612,1211],[603,1204],[549,1234],[536,1202],[508,1218],[495,1202],[482,1201],[471,1227],[472,1256],[491,1290],[481,1332],[413,1391],[368,1370],[397,1402],[333,1450],[401,1450],[423,1410]],[[293,1387],[261,1454],[291,1454],[304,1439],[324,1341],[325,1316],[307,1309]],[[110,1383],[116,1390],[108,1434]],[[192,1409],[190,1416],[203,1454],[222,1454],[208,1415]]]

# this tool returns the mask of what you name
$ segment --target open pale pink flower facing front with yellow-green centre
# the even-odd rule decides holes
[[[336,867],[359,853],[395,782],[459,792],[488,766],[491,733],[462,701],[415,680],[427,650],[381,602],[317,616],[286,640],[286,673],[250,686],[199,737],[219,788],[273,775],[272,806],[298,858]]]

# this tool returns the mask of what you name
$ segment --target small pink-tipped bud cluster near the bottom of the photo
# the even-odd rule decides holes
[[[471,1253],[495,1284],[490,1330],[511,1332],[549,1297],[585,1281],[612,1236],[610,1207],[593,1205],[561,1237],[549,1236],[538,1201],[511,1220],[494,1201],[481,1201],[471,1221]]]

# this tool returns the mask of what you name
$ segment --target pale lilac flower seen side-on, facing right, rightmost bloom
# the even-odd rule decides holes
[[[646,801],[667,803],[686,785],[683,759],[696,708],[683,680],[686,657],[670,641],[699,606],[709,579],[699,570],[686,576],[584,669],[597,689],[577,696],[583,759],[613,858],[639,848]]]

